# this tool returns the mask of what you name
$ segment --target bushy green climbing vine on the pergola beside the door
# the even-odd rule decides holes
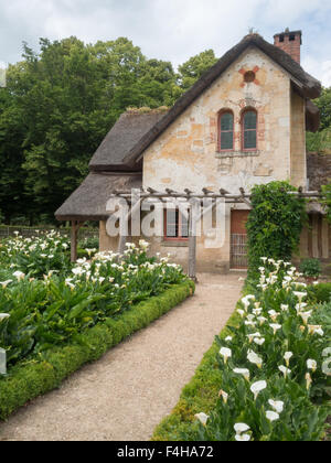
[[[287,182],[256,185],[252,191],[253,211],[247,222],[249,276],[254,277],[261,257],[290,260],[298,249],[307,219],[306,202]]]

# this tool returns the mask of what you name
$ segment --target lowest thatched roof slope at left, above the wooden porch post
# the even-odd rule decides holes
[[[106,204],[116,190],[140,189],[141,173],[92,172],[56,211],[57,220],[104,220],[109,214]]]

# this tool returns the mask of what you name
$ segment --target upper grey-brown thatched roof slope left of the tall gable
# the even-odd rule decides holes
[[[168,109],[168,108],[167,108]],[[122,114],[106,136],[89,162],[92,171],[140,170],[126,165],[124,159],[162,117],[164,110],[128,110]]]

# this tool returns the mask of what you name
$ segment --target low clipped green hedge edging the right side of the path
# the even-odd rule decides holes
[[[222,330],[220,337],[224,340],[226,336],[233,335],[228,326],[236,327],[241,317],[235,311]],[[182,433],[190,435],[195,413],[201,412],[201,410],[209,413],[215,408],[220,391],[220,377],[222,375],[216,360],[218,351],[220,346],[214,342],[212,347],[204,354],[193,378],[183,388],[180,400],[171,414],[166,417],[156,428],[152,441],[181,441]]]

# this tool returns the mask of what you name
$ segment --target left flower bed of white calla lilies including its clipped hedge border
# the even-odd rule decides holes
[[[145,241],[128,244],[122,257],[87,249],[89,260],[72,265],[55,232],[2,241],[0,419],[194,292],[181,267],[147,249]]]

